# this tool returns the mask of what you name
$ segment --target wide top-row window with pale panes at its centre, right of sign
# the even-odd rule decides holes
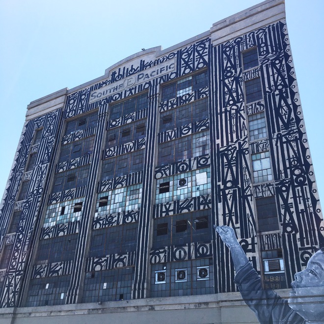
[[[166,84],[162,88],[161,101],[173,99],[208,85],[207,71]]]

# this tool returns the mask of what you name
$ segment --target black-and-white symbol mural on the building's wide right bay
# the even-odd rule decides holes
[[[242,52],[255,47],[260,66],[245,72]],[[259,264],[256,262],[257,242],[253,240],[256,235],[253,197],[258,202],[260,198],[274,195],[284,269],[290,283],[294,274],[306,266],[316,248],[323,246],[324,226],[286,25],[278,22],[215,47],[214,64],[218,66],[215,83],[219,91],[214,102],[216,118],[211,115],[211,123],[216,126],[212,138],[212,143],[216,143],[216,152],[212,155],[212,163],[216,163],[212,182],[218,202],[218,206],[213,205],[216,224],[234,228],[249,261],[259,271],[256,267]],[[258,78],[262,99],[249,103],[247,82]],[[244,87],[246,107],[242,108]],[[268,139],[248,146],[248,117],[261,111],[265,111]],[[251,168],[246,159],[248,151],[252,154],[252,162],[253,156],[257,159],[260,152],[270,152],[271,183],[257,183],[254,164]],[[266,155],[264,157],[267,159]],[[216,247],[217,251],[224,248],[217,238]],[[228,254],[220,253],[214,258],[216,263],[225,265],[218,267],[218,291],[234,291],[234,269],[228,263]]]

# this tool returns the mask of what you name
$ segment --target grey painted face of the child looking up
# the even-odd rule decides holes
[[[306,321],[324,319],[324,254],[316,252],[305,270],[295,274],[289,306]]]

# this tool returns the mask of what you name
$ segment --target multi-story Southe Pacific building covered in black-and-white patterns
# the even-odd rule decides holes
[[[0,207],[1,323],[253,321],[213,225],[283,294],[324,238],[284,1],[30,103]]]

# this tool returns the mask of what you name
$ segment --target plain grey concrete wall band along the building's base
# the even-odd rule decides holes
[[[289,290],[278,290],[281,297]],[[0,324],[234,324],[259,323],[240,293],[145,298],[72,305],[4,308]]]

